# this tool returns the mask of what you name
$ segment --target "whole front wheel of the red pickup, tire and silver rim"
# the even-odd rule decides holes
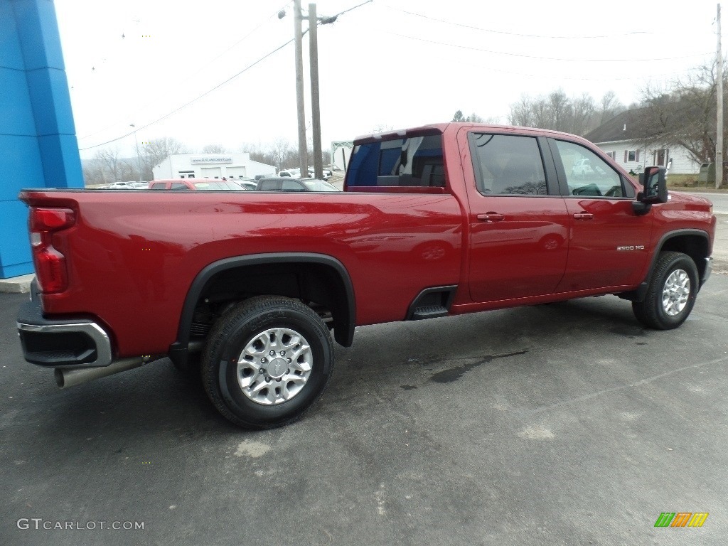
[[[681,252],[662,252],[654,265],[644,301],[633,301],[632,310],[642,324],[657,330],[677,328],[695,304],[697,267]]]

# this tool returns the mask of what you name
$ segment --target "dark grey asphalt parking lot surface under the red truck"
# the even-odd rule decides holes
[[[723,275],[676,331],[644,330],[614,296],[359,328],[336,347],[322,400],[266,432],[225,422],[168,360],[58,389],[23,361],[25,297],[0,294],[1,545],[715,545],[728,533]],[[654,527],[666,512],[709,516]]]

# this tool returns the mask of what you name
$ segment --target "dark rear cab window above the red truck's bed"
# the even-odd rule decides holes
[[[442,193],[445,187],[440,132],[357,144],[352,151],[347,173],[349,190],[408,188],[411,191],[433,189],[432,193]]]

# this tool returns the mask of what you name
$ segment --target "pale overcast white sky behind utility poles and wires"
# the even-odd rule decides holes
[[[248,68],[293,38],[284,2],[55,0],[82,157],[132,123],[140,143],[170,136],[191,151],[295,144],[293,44]],[[629,104],[646,84],[712,60],[715,18],[712,0],[373,0],[318,28],[323,147],[376,127],[447,122],[456,110],[507,123],[521,95],[557,88],[597,100],[612,90]],[[310,138],[307,56],[304,37]],[[131,156],[134,136],[108,146]]]

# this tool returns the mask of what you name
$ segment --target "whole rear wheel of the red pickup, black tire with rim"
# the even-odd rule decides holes
[[[265,355],[264,358],[253,359],[250,356],[248,347],[254,346],[254,340],[273,339],[273,342],[276,342],[274,333],[263,336],[274,328],[285,330],[280,336],[281,347],[284,342],[293,343],[291,340],[296,339],[295,336],[288,335],[291,332],[303,338],[305,341],[303,347],[309,347],[305,350],[306,363],[304,363],[309,368],[307,375],[294,370],[293,373],[299,374],[299,377],[289,383],[286,378],[293,377],[290,375],[291,369],[297,364],[290,364],[290,369],[285,372],[281,369],[281,363],[282,368],[285,368],[285,360],[290,363],[294,349],[301,347],[301,344],[289,349],[286,357],[274,354],[272,357]],[[303,348],[299,350],[304,351]],[[241,359],[242,364],[239,366],[237,359],[243,356],[244,351],[245,359],[250,360]],[[261,352],[259,355],[264,353]],[[266,358],[271,360],[261,364],[260,360]],[[249,363],[257,366],[258,371],[255,373],[250,371],[247,367]],[[268,366],[271,369],[265,371]],[[273,368],[276,371],[273,371]],[[240,427],[250,429],[280,427],[301,417],[323,393],[331,379],[332,371],[331,335],[323,320],[300,301],[280,296],[250,298],[223,314],[210,331],[202,354],[202,384],[207,396],[226,419]],[[261,372],[261,375],[256,375],[258,372]],[[275,379],[275,373],[279,373],[278,379]],[[305,381],[301,379],[304,376]],[[248,389],[241,385],[240,381],[252,381],[250,378],[255,378],[259,389],[258,398],[265,400],[253,399],[256,396],[253,385]],[[303,381],[302,386],[301,381]],[[290,386],[297,389],[293,395],[290,395],[288,390]],[[285,394],[281,395],[280,392]],[[286,400],[285,395],[290,395],[290,398]],[[268,400],[271,397],[274,398],[274,402]]]

